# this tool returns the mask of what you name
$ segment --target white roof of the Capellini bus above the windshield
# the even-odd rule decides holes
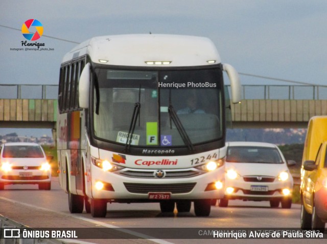
[[[211,40],[181,35],[134,34],[94,37],[66,53],[62,63],[85,54],[88,54],[94,63],[121,66],[180,67],[221,63],[219,53]],[[107,62],[104,63],[105,61]],[[215,62],[208,63],[209,61]]]

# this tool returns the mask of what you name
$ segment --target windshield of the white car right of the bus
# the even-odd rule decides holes
[[[226,161],[283,164],[278,150],[272,147],[229,146]]]

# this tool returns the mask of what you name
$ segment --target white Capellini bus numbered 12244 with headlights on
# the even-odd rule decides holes
[[[224,196],[230,79],[212,41],[179,35],[87,40],[60,68],[57,147],[69,210],[104,217],[107,203],[159,202],[208,216]]]

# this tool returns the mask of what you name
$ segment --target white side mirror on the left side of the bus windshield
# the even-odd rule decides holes
[[[81,73],[78,83],[78,100],[82,109],[88,109],[90,90],[90,63],[87,63]]]

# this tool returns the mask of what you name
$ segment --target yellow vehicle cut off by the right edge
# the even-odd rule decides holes
[[[301,228],[324,230],[327,222],[327,116],[308,124],[301,167]]]

